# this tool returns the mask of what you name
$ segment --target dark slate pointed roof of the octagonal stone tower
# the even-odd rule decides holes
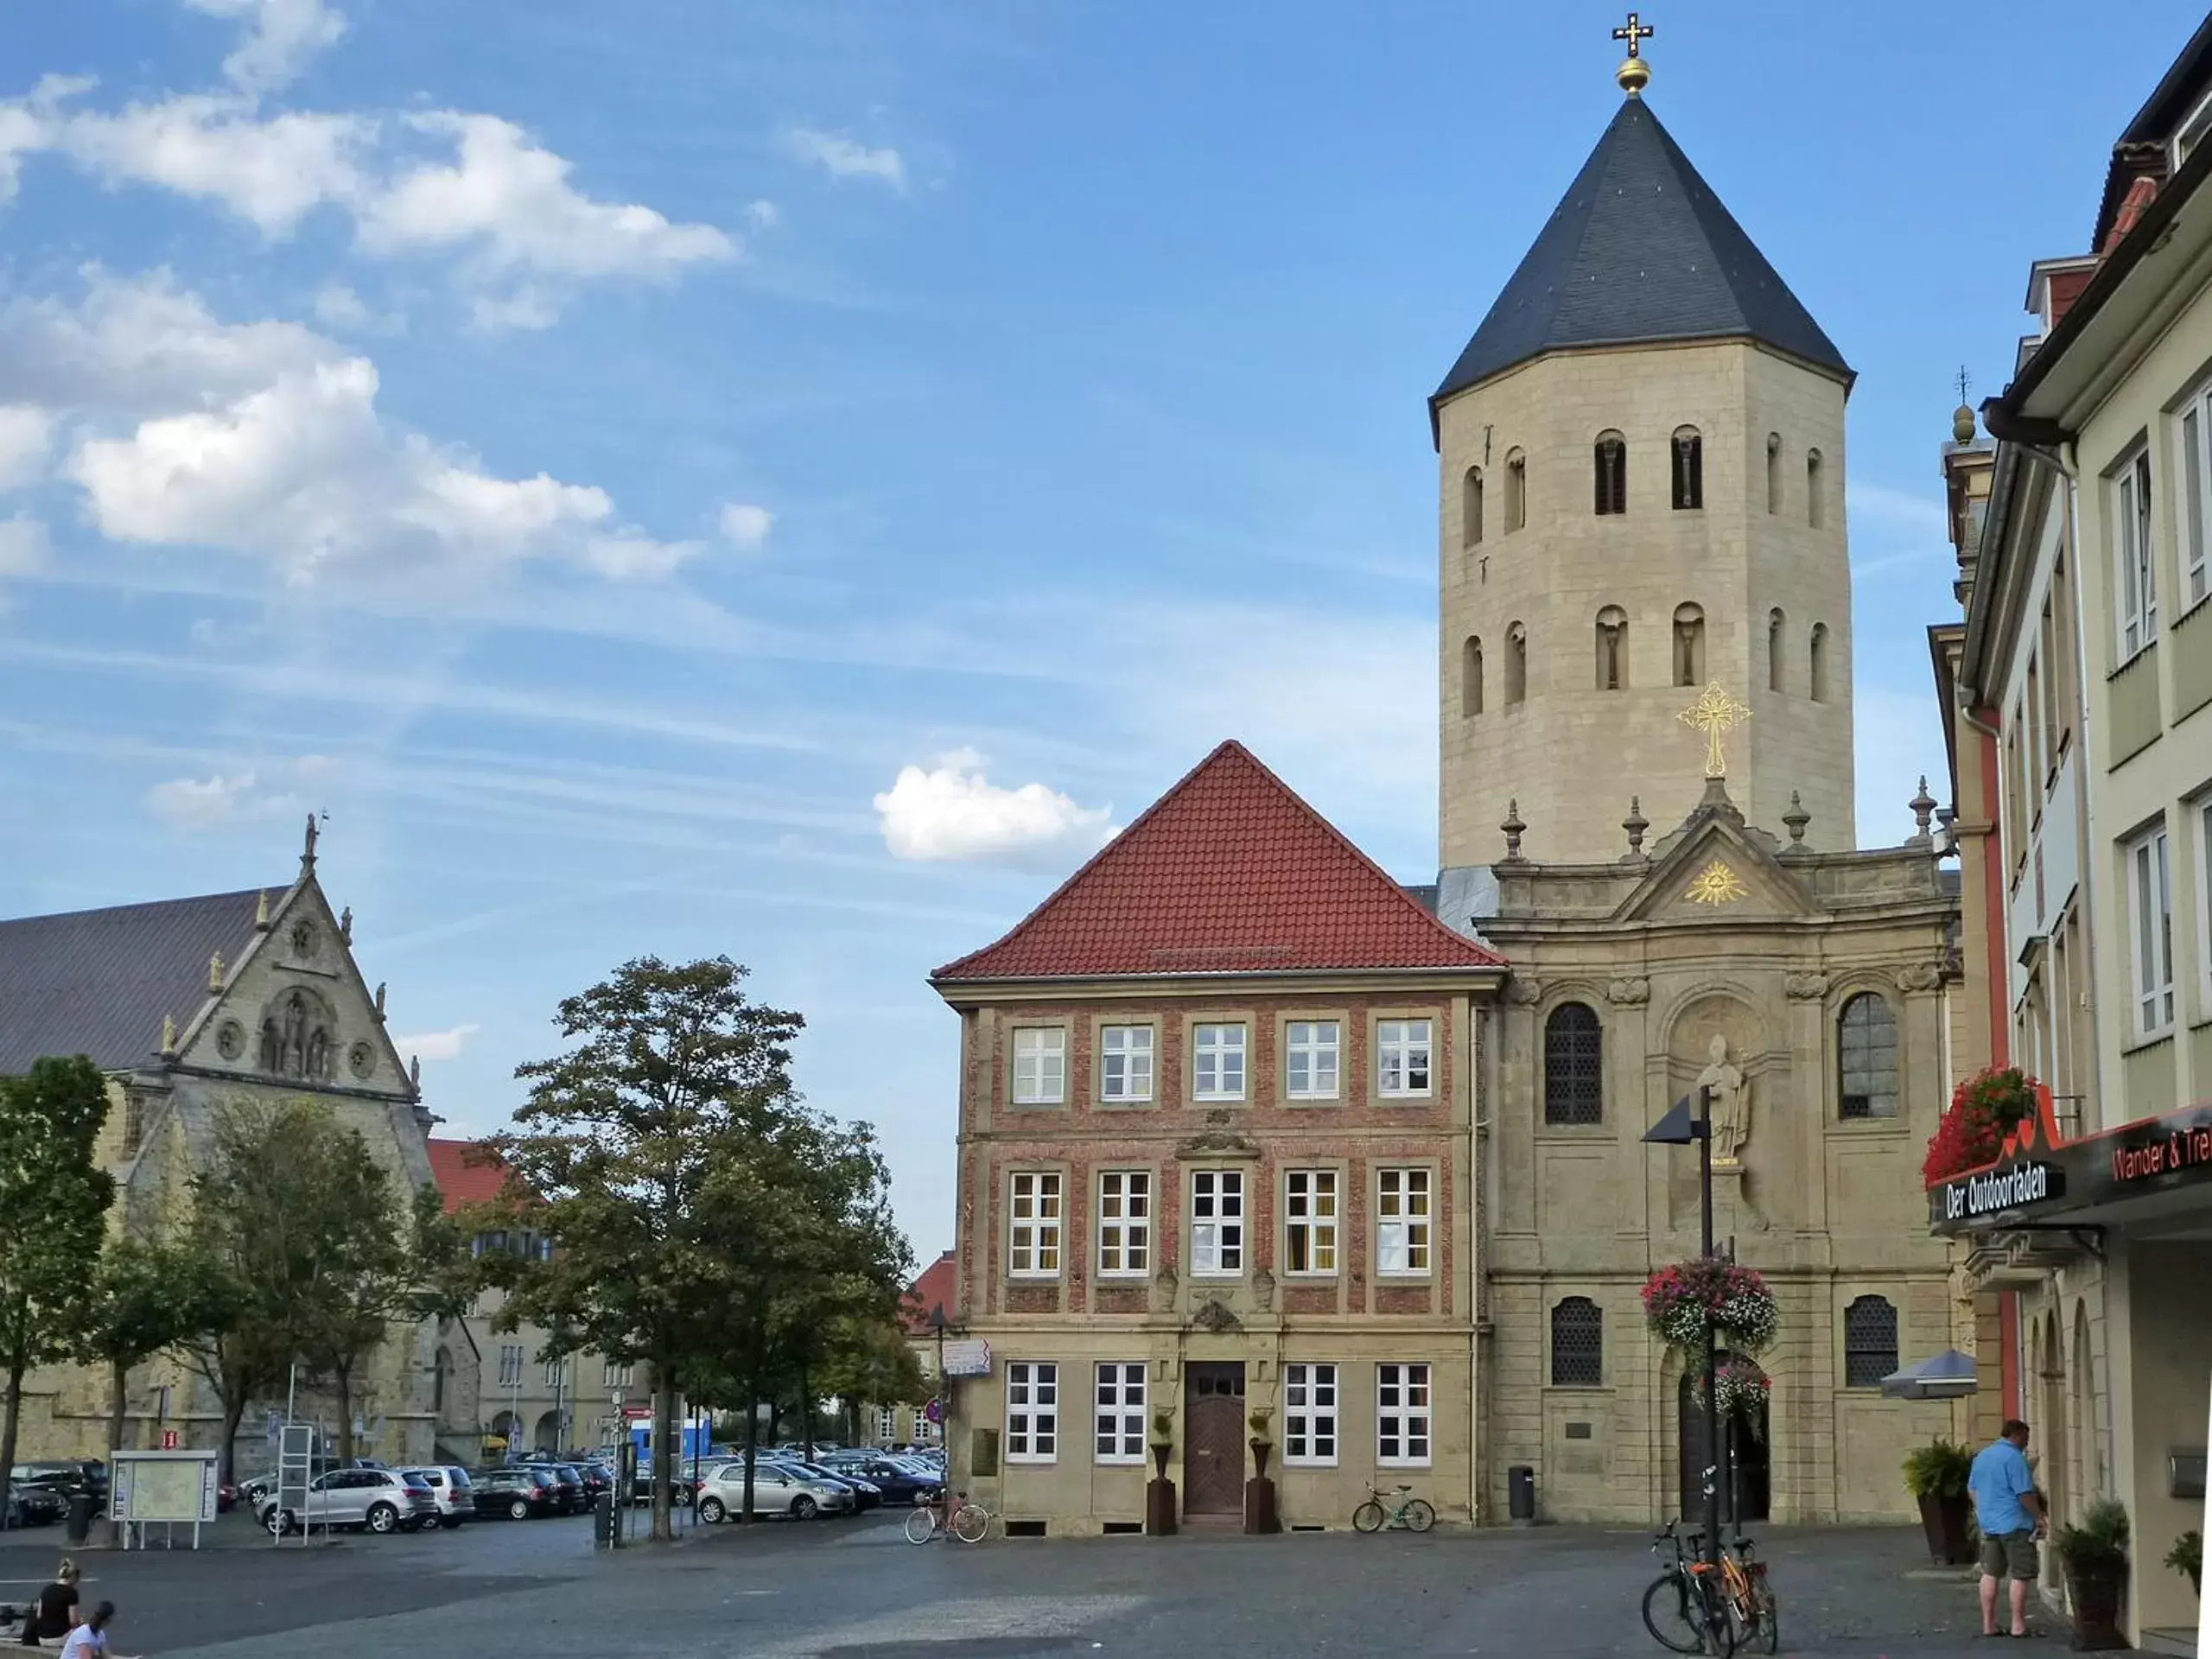
[[[1628,97],[1429,409],[1546,352],[1739,336],[1851,378],[1659,117]]]

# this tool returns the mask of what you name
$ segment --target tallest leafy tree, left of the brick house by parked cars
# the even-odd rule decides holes
[[[564,998],[555,1024],[573,1046],[515,1068],[531,1095],[491,1144],[515,1223],[551,1243],[544,1259],[491,1263],[509,1292],[500,1325],[553,1329],[549,1358],[582,1347],[650,1367],[657,1540],[672,1537],[677,1389],[743,1287],[719,1206],[799,1113],[803,1020],[750,1002],[743,980],[728,958],[639,958]]]

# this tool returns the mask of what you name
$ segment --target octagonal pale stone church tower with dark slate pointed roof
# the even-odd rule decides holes
[[[1635,71],[1635,73],[1630,73]],[[1601,863],[1672,827],[1708,684],[1750,708],[1728,790],[1851,847],[1851,369],[1626,100],[1429,400],[1442,476],[1442,865]]]

